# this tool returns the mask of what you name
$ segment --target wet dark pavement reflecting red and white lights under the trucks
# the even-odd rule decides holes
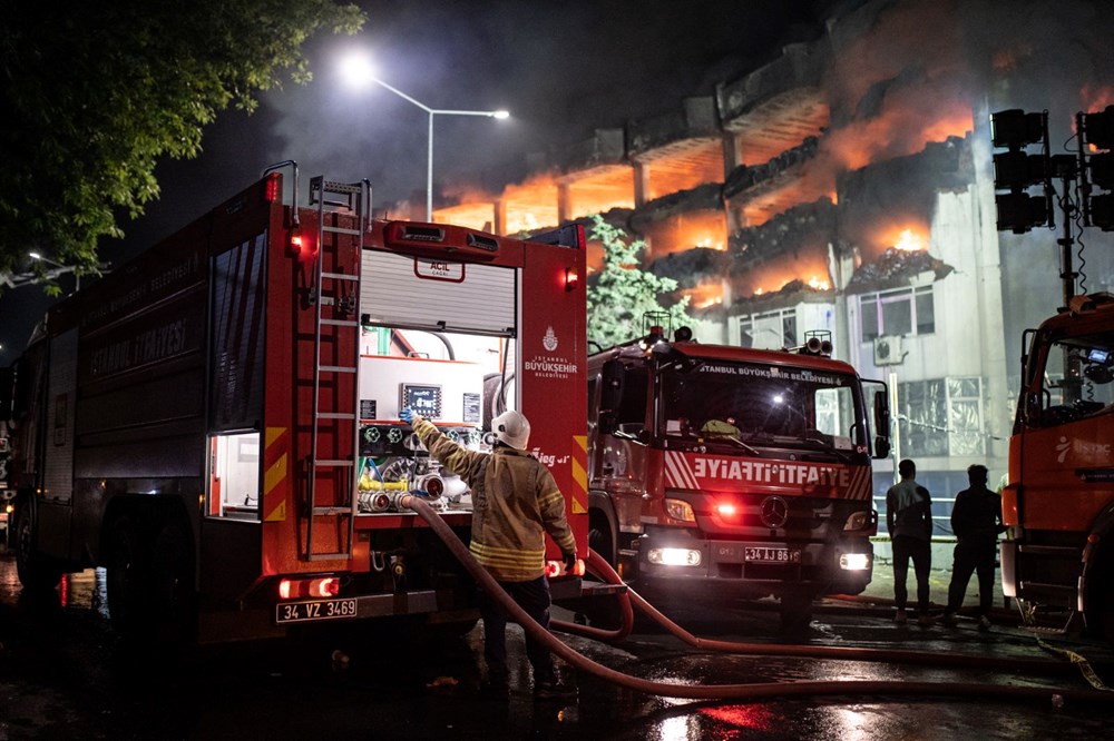
[[[879,564],[876,573],[888,571]],[[946,580],[945,580],[946,581]],[[697,702],[647,695],[564,666],[579,689],[567,704],[535,703],[518,629],[509,638],[510,700],[481,700],[481,633],[446,640],[402,625],[290,641],[206,648],[185,656],[133,652],[104,610],[102,577],[76,575],[53,599],[22,594],[10,556],[0,554],[0,741],[9,739],[1096,739],[1114,727],[1114,701],[1008,701],[962,693],[871,694]],[[944,585],[946,587],[946,583]],[[885,603],[885,579],[868,597]],[[942,587],[941,587],[942,589]],[[934,585],[934,597],[944,592]],[[971,600],[968,600],[973,603]],[[1000,604],[1000,603],[999,603]],[[696,635],[776,642],[773,604],[671,606]],[[570,618],[565,613],[561,618]],[[998,615],[994,630],[896,625],[888,607],[828,601],[798,644],[917,650],[973,658],[940,668],[834,659],[727,655],[694,651],[639,624],[619,645],[564,636],[594,661],[627,674],[682,684],[852,680],[988,686],[1086,688],[1078,671]],[[1111,680],[1104,646],[1056,639]],[[981,658],[1048,660],[1049,672],[990,669]],[[985,663],[985,662],[984,662]]]

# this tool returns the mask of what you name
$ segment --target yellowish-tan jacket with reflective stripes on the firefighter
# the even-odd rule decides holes
[[[472,490],[468,547],[492,576],[528,582],[544,575],[546,533],[563,553],[576,553],[565,497],[545,464],[505,446],[490,454],[469,451],[417,415],[413,428],[430,454]]]

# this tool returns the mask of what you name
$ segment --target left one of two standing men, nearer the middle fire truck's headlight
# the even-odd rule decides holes
[[[928,614],[928,572],[932,565],[932,500],[928,490],[917,483],[917,465],[906,458],[898,464],[901,481],[886,492],[886,524],[889,525],[893,549],[893,620],[906,622],[906,575],[912,560],[917,575],[917,623],[921,628],[932,624]]]

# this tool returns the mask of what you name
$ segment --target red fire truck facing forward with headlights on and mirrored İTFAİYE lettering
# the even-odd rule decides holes
[[[820,335],[759,350],[655,326],[589,357],[592,549],[659,599],[776,595],[786,628],[817,595],[862,592],[889,407],[830,353]]]

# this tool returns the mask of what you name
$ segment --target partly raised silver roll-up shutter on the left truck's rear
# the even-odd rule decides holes
[[[514,268],[439,263],[369,250],[362,260],[360,308],[371,324],[483,334],[515,334]],[[448,265],[448,277],[420,277]]]

